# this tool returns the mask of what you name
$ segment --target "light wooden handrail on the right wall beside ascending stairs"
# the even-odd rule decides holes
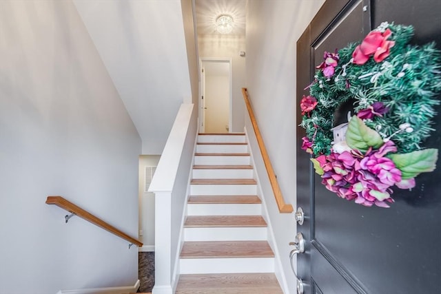
[[[249,118],[251,119],[251,123],[253,125],[254,134],[256,134],[257,143],[260,148],[260,153],[263,157],[263,162],[265,163],[265,167],[267,169],[269,182],[271,183],[271,187],[273,189],[274,198],[276,198],[278,211],[281,213],[291,213],[294,211],[291,204],[286,204],[285,200],[283,200],[282,191],[280,191],[280,187],[278,186],[276,174],[274,174],[274,169],[271,165],[271,161],[269,160],[269,156],[267,153],[267,149],[265,148],[265,143],[263,143],[262,135],[260,135],[260,130],[257,125],[256,117],[254,116],[254,112],[251,106],[251,102],[248,98],[247,88],[242,88],[243,98],[245,99],[245,105],[247,105]]]

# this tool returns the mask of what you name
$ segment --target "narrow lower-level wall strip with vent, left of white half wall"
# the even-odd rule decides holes
[[[143,242],[140,251],[154,251],[154,193],[147,192],[148,187],[146,190],[145,167],[157,167],[160,158],[160,155],[139,156],[139,240]]]

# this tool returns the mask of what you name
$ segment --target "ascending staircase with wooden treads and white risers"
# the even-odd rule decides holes
[[[199,134],[176,294],[283,293],[245,134]]]

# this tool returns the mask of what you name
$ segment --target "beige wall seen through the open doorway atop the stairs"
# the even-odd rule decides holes
[[[227,133],[229,125],[229,76],[205,75],[205,132]]]

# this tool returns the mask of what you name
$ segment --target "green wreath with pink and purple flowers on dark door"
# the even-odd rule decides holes
[[[434,43],[409,45],[412,36],[412,26],[382,23],[360,45],[325,52],[300,101],[302,149],[340,198],[389,207],[391,187],[411,189],[418,174],[435,169],[438,149],[421,143],[440,104],[441,54]],[[334,127],[344,103],[355,113]]]

